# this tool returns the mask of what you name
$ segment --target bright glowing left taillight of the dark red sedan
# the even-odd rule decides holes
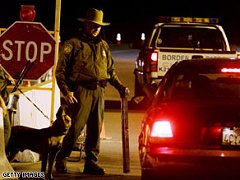
[[[173,137],[172,127],[169,121],[156,121],[153,124],[152,137],[171,138]]]

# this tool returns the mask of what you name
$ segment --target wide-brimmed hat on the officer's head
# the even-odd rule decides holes
[[[100,26],[110,25],[110,23],[103,22],[103,11],[94,9],[94,8],[90,8],[87,10],[85,18],[78,18],[77,20],[81,22],[86,22],[86,21],[93,22]]]

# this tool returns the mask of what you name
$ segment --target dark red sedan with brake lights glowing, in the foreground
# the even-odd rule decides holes
[[[176,62],[145,113],[142,179],[240,178],[240,60]]]

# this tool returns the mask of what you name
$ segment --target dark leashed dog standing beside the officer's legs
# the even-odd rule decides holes
[[[18,151],[29,149],[40,154],[41,171],[45,173],[45,179],[53,179],[53,163],[70,126],[71,118],[62,108],[59,108],[56,120],[50,127],[34,129],[26,126],[13,126],[6,148],[9,162],[14,159]]]

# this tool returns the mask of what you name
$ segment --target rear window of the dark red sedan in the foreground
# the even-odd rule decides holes
[[[240,75],[180,74],[169,90],[171,99],[240,98]]]

